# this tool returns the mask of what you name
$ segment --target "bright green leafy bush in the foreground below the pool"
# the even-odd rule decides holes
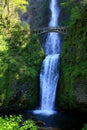
[[[22,116],[11,116],[5,118],[0,117],[0,130],[37,130],[32,120],[22,122]]]

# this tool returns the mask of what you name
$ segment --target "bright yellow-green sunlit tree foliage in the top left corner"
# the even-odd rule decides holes
[[[0,0],[0,30],[13,28],[15,24],[19,23],[18,10],[26,11],[26,0]]]

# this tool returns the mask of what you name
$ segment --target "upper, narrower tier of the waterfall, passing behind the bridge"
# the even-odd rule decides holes
[[[48,24],[49,27],[58,26],[59,7],[57,0],[51,0],[50,3],[51,17]],[[49,33],[45,43],[45,54],[58,54],[60,53],[60,37],[58,33]]]

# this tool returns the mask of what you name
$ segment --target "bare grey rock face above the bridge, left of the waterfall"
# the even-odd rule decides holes
[[[22,20],[27,21],[31,28],[47,26],[49,20],[50,0],[28,0],[27,13],[22,15]]]

